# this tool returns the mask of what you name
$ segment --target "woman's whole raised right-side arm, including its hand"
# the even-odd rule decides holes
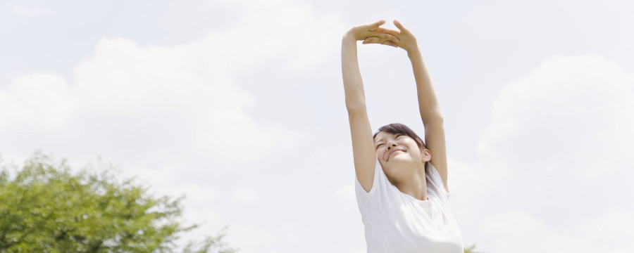
[[[414,70],[414,79],[416,79],[418,110],[421,112],[421,119],[423,119],[425,126],[425,145],[431,153],[430,162],[440,174],[446,190],[449,191],[449,186],[447,186],[447,145],[445,144],[445,126],[440,113],[440,105],[438,105],[427,67],[423,63],[423,56],[418,49],[416,37],[397,20],[394,20],[394,25],[399,31],[382,27],[379,27],[378,30],[397,37],[399,39],[397,45],[407,51],[412,70]]]

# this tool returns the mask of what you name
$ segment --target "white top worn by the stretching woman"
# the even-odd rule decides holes
[[[368,253],[464,253],[462,233],[449,209],[440,174],[425,166],[428,200],[417,200],[387,181],[378,160],[369,193],[355,178],[356,202],[366,230]]]

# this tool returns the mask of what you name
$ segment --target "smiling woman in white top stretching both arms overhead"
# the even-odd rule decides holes
[[[342,39],[342,74],[352,134],[356,200],[368,252],[462,253],[461,232],[449,209],[445,127],[416,38],[400,22],[352,27]],[[356,41],[403,48],[411,60],[425,141],[403,124],[372,134]],[[390,104],[391,102],[391,104]],[[398,106],[388,100],[386,106]],[[425,144],[426,143],[426,144]]]

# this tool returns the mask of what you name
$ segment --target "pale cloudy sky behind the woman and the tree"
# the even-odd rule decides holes
[[[449,199],[488,253],[634,250],[630,1],[0,3],[0,156],[98,157],[185,195],[183,240],[365,252],[341,78],[354,25],[400,20],[445,119]],[[423,135],[401,48],[359,43],[373,131]],[[394,110],[398,106],[398,110]]]

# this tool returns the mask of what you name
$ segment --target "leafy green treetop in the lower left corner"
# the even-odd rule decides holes
[[[182,197],[118,181],[112,165],[73,173],[41,152],[22,168],[0,164],[0,252],[235,252],[225,231],[178,249],[197,227],[179,221]]]

